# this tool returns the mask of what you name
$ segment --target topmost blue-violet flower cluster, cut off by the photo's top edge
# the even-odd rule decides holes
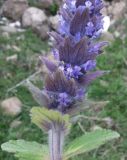
[[[99,37],[103,29],[102,8],[101,0],[66,0],[60,10],[58,32],[63,36],[73,36],[75,41],[77,35],[80,39],[84,36]]]

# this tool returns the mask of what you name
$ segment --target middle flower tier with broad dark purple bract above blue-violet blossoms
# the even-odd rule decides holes
[[[44,59],[44,63],[51,72],[58,67],[68,79],[74,78],[79,81],[86,72],[95,69],[96,56],[102,52],[102,47],[106,44],[107,42],[90,44],[87,38],[74,43],[71,38],[66,38],[64,43],[58,47],[59,60],[57,64],[53,65],[46,59]]]

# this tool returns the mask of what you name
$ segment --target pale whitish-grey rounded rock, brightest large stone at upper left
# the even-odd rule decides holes
[[[36,27],[47,20],[46,14],[41,9],[30,7],[22,16],[23,27]]]

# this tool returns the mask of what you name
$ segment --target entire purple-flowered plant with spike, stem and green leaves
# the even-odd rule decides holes
[[[54,60],[40,57],[48,69],[43,89],[31,82],[28,89],[40,107],[31,110],[31,119],[48,133],[48,146],[24,140],[9,141],[2,149],[20,160],[67,160],[118,138],[111,130],[95,130],[64,145],[72,119],[85,106],[88,85],[107,71],[95,71],[96,57],[107,42],[99,42],[104,21],[102,0],[65,0],[60,8],[53,39]],[[77,135],[78,136],[78,135]]]

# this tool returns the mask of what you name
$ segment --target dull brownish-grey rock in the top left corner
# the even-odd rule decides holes
[[[13,20],[19,20],[28,8],[27,0],[7,0],[2,6],[2,14]]]

